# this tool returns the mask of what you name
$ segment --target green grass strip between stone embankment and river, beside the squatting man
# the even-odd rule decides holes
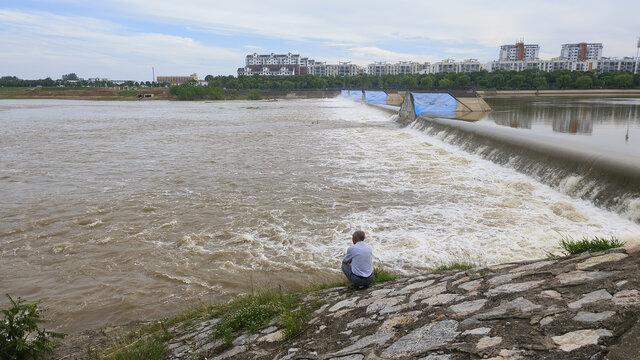
[[[383,267],[374,269],[373,284],[392,281],[396,275]],[[89,354],[90,359],[133,360],[162,359],[171,334],[167,329],[179,325],[188,328],[200,321],[220,318],[211,338],[222,340],[222,344],[201,358],[220,353],[232,346],[233,340],[243,333],[252,333],[277,321],[285,339],[291,339],[304,331],[311,314],[323,305],[320,299],[303,302],[304,295],[332,287],[346,287],[347,281],[320,284],[299,292],[284,293],[280,289],[258,295],[242,295],[225,304],[204,304],[174,317],[163,319],[131,331],[105,349]]]

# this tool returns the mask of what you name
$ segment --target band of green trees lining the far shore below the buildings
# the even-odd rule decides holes
[[[213,76],[205,77],[206,86],[194,82],[170,86],[168,83],[150,81],[126,81],[114,83],[109,80],[87,81],[75,74],[63,75],[62,79],[51,78],[23,80],[15,76],[0,77],[0,96],[11,89],[36,87],[52,89],[119,88],[143,90],[170,86],[169,97],[178,100],[257,100],[270,92],[303,90],[339,91],[341,89],[426,89],[426,90],[575,90],[575,89],[640,89],[640,74],[617,71],[559,70],[544,72],[537,69],[524,71],[476,71],[470,73],[357,75],[357,76]]]

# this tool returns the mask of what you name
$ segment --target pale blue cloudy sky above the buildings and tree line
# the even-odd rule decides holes
[[[501,45],[598,42],[636,56],[640,1],[0,0],[0,76],[236,75],[248,54],[316,61],[497,60]]]

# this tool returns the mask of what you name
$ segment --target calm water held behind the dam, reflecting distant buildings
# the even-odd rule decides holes
[[[485,100],[493,111],[481,121],[482,125],[553,134],[560,139],[594,146],[602,152],[640,157],[640,99],[530,97]]]

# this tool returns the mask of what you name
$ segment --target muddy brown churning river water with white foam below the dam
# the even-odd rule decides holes
[[[0,292],[66,332],[340,279],[356,229],[402,274],[545,257],[561,235],[640,242],[620,213],[342,98],[1,101],[0,219]]]

